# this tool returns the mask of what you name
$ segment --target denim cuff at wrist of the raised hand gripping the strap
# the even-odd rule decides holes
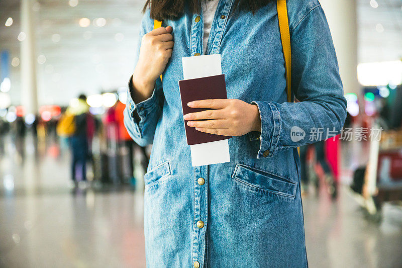
[[[158,107],[158,98],[156,94],[156,83],[154,90],[152,92],[152,96],[145,101],[142,101],[140,103],[135,103],[135,100],[133,100],[133,97],[131,93],[134,90],[133,86],[133,76],[130,77],[129,81],[129,87],[127,91],[127,102],[126,102],[126,109],[128,109],[128,113],[130,117],[134,121],[134,125],[136,125],[136,131],[139,133],[141,132],[140,129],[142,128],[145,118],[148,114],[151,112],[156,111]]]

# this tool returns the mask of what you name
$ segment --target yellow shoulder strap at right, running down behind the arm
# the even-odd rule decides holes
[[[283,57],[285,59],[287,101],[291,102],[292,57],[290,50],[290,32],[289,21],[287,19],[286,0],[276,0],[276,6],[278,9],[279,31],[280,39],[282,41]]]

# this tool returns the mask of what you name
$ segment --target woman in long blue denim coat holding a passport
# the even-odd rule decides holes
[[[296,148],[315,141],[312,129],[320,139],[339,133],[346,116],[331,34],[317,0],[288,1],[291,89],[300,102],[287,103],[276,1],[238,2],[220,0],[211,24],[204,0],[154,0],[143,17],[124,116],[138,144],[153,143],[144,195],[149,267],[307,266]],[[153,30],[154,18],[167,27]],[[216,53],[228,100],[191,103],[214,110],[185,119],[233,136],[231,161],[192,167],[181,58]]]

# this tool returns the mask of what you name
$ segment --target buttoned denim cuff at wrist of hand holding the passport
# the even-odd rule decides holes
[[[248,133],[250,140],[260,139],[260,149],[257,158],[268,158],[275,155],[280,133],[280,114],[274,103],[253,101],[258,107],[261,118],[261,132]]]

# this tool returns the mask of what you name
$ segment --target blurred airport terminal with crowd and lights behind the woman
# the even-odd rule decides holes
[[[320,2],[348,118],[300,148],[309,265],[402,267],[402,1]],[[0,0],[0,267],[145,267],[151,146],[122,114],[144,4]]]

